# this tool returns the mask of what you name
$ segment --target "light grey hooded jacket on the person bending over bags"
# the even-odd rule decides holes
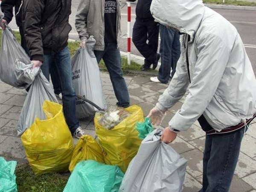
[[[236,28],[201,0],[153,0],[151,13],[185,33],[176,73],[157,103],[166,111],[188,88],[169,127],[184,131],[203,114],[221,131],[251,118],[256,113],[256,79]]]

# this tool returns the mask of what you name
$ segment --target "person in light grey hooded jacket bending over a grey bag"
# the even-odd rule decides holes
[[[198,120],[206,131],[201,192],[227,192],[256,113],[256,78],[243,42],[236,28],[201,0],[153,0],[151,13],[183,38],[176,73],[148,117],[160,124],[188,91],[161,139],[172,142]]]

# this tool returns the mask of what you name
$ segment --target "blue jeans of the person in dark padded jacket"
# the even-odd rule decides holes
[[[67,47],[55,55],[44,55],[41,70],[48,81],[52,65],[56,65],[58,77],[54,79],[58,79],[61,83],[64,116],[73,134],[79,127],[79,121],[76,118],[76,93],[72,83],[71,59]]]

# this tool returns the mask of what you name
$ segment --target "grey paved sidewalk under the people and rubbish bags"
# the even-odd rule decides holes
[[[108,73],[101,73],[101,75],[108,105],[115,105],[116,98],[109,75]],[[158,97],[167,87],[166,84],[151,82],[149,77],[145,74],[125,76],[131,104],[139,105],[145,116],[154,107]],[[26,163],[23,146],[20,138],[16,135],[17,119],[25,98],[25,90],[16,89],[0,81],[0,156],[15,159],[19,163]],[[163,120],[163,127],[168,125],[169,119],[181,107],[184,99],[185,96],[167,112],[167,116]],[[93,119],[81,120],[81,127],[85,129],[86,134],[95,135]],[[199,127],[198,122],[195,122],[188,131],[178,134],[175,142],[170,144],[188,160],[183,192],[197,192],[201,188],[204,135],[204,131]],[[242,142],[239,163],[230,192],[256,192],[255,165],[256,122],[254,121]]]

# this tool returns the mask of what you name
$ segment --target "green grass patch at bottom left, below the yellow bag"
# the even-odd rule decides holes
[[[18,192],[62,192],[70,174],[35,175],[28,164],[16,168]]]

